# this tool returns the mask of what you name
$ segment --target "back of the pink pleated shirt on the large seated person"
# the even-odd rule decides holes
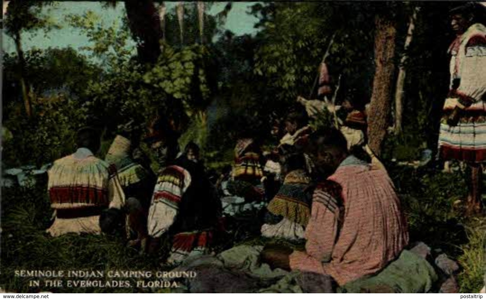
[[[385,171],[349,156],[328,179],[342,187],[344,215],[324,268],[341,284],[381,270],[408,243],[408,233]]]

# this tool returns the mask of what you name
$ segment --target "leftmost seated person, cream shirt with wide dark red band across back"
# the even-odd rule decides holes
[[[116,167],[94,156],[100,148],[100,133],[82,128],[77,133],[77,145],[74,154],[56,160],[49,170],[48,190],[55,220],[47,231],[52,236],[99,234],[102,211],[120,211],[125,203]]]

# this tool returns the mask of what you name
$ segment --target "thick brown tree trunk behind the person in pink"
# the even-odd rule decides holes
[[[378,15],[375,19],[375,77],[368,109],[368,144],[378,157],[391,110],[396,35],[396,23]]]

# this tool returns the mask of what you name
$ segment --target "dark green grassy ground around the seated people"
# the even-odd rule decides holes
[[[402,198],[411,241],[423,241],[440,249],[461,265],[461,292],[477,292],[483,285],[486,220],[462,216],[465,174],[443,174],[426,169],[389,166],[389,173]],[[140,255],[127,248],[121,237],[65,235],[51,238],[52,211],[45,186],[2,190],[0,286],[16,292],[151,292],[148,288],[49,288],[29,287],[29,279],[15,270],[163,270],[158,256]],[[255,215],[254,215],[255,216]],[[231,234],[224,250],[236,243],[260,244],[259,224],[249,217],[230,223]],[[161,289],[164,292],[167,289]]]

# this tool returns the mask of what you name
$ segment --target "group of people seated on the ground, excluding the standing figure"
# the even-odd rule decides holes
[[[345,283],[396,258],[408,234],[386,171],[369,163],[371,158],[352,155],[341,131],[312,130],[305,111],[289,113],[285,133],[270,154],[278,167],[266,170],[272,159],[263,157],[252,138],[240,139],[225,181],[233,196],[263,203],[263,237],[306,242],[305,251],[266,247],[262,261]],[[78,150],[49,170],[55,217],[48,231],[59,236],[125,228],[130,246],[158,252],[169,264],[209,253],[225,229],[222,182],[209,180],[193,142],[168,157],[157,148],[166,146],[162,134],[143,139],[155,154],[164,153],[166,164],[155,175],[139,150],[140,136],[125,127],[103,160],[94,155],[99,131],[79,130]]]

